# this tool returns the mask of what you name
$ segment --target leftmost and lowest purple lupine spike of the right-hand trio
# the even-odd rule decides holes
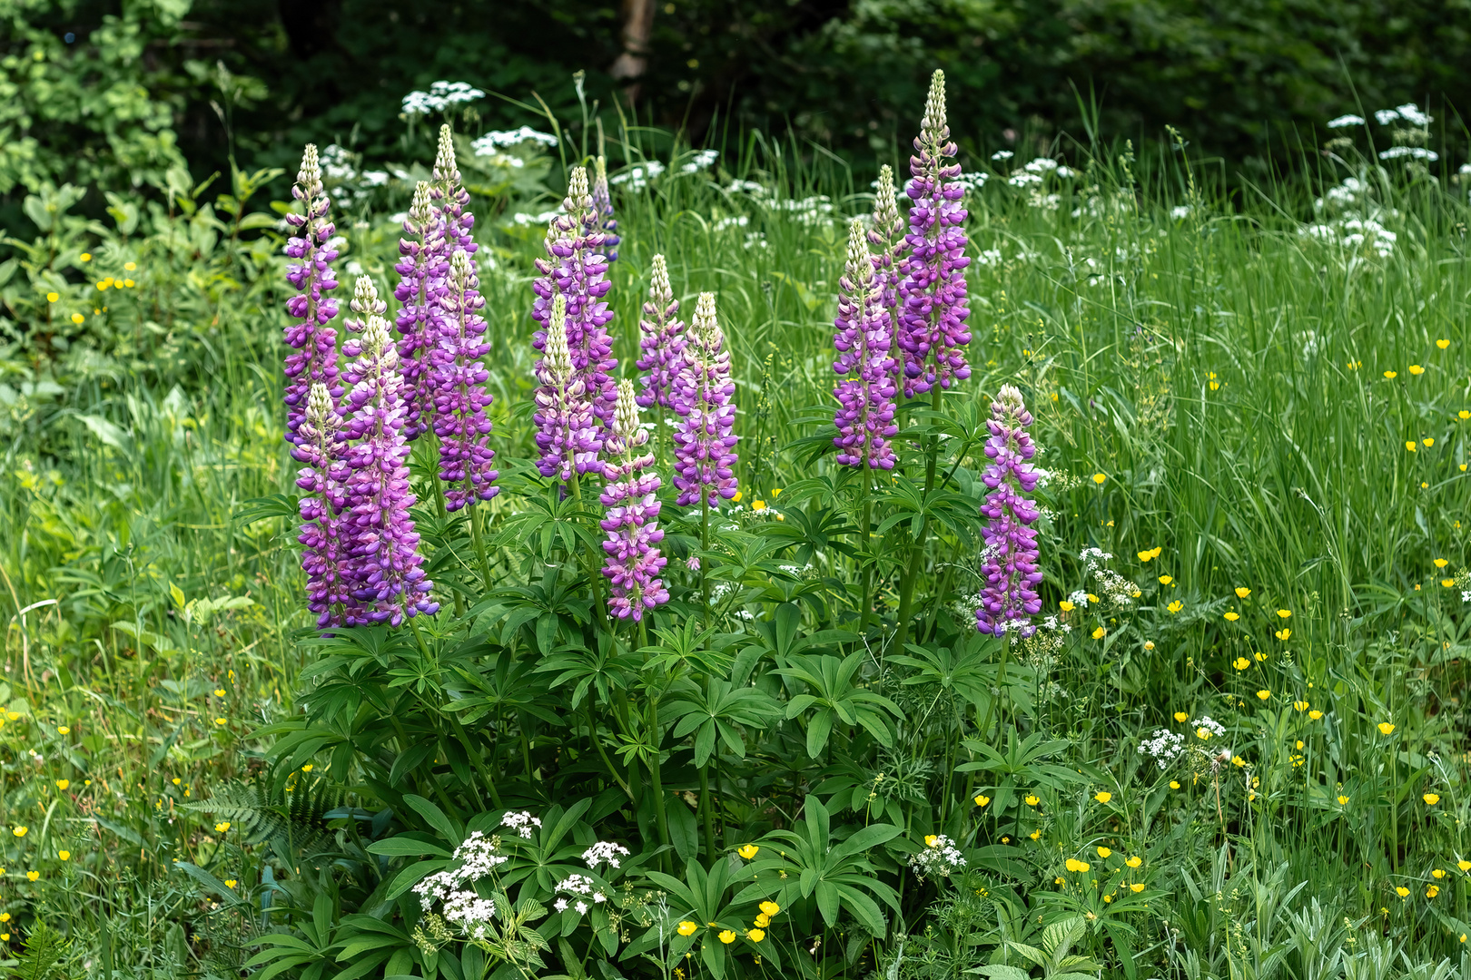
[[[894,425],[894,361],[888,356],[893,329],[888,310],[883,306],[883,288],[868,254],[863,222],[858,217],[849,226],[847,266],[838,279],[837,360],[833,370],[846,375],[833,388],[837,411],[833,423],[837,436],[837,461],[843,466],[863,466],[875,470],[894,469],[894,448],[888,438],[899,432]]]

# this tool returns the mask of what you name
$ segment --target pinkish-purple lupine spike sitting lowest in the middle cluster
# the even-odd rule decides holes
[[[655,522],[659,519],[659,475],[646,472],[653,466],[653,454],[644,453],[649,433],[638,425],[638,403],[634,398],[634,383],[618,382],[618,410],[613,413],[613,429],[608,436],[603,489],[603,507],[608,514],[600,522],[608,532],[603,551],[608,563],[603,574],[612,585],[608,613],[618,619],[643,619],[644,610],[669,601],[659,573],[666,563],[658,544],[663,530]]]

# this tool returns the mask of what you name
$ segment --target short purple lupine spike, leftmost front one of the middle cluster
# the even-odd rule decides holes
[[[552,323],[546,332],[546,350],[537,361],[537,408],[531,416],[537,426],[535,442],[541,450],[537,469],[563,483],[577,473],[602,473],[597,454],[597,422],[587,400],[583,378],[572,369],[572,354],[566,342],[566,297],[552,297]]]

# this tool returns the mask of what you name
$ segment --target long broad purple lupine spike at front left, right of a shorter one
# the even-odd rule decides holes
[[[353,597],[362,604],[347,617],[349,626],[405,616],[434,614],[434,583],[424,574],[419,535],[409,507],[409,444],[403,436],[403,378],[399,351],[388,338],[388,323],[369,316],[362,336],[343,345],[355,360],[346,378],[352,383],[341,414],[343,436],[352,441],[347,464],[347,514],[352,535]]]

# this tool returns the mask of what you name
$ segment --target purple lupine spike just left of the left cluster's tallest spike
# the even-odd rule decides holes
[[[413,203],[403,219],[406,238],[399,239],[399,285],[393,297],[402,304],[394,323],[399,326],[399,370],[403,373],[403,438],[415,439],[430,428],[428,351],[438,341],[437,291],[449,269],[444,257],[444,229],[430,201],[431,188],[419,181]]]

